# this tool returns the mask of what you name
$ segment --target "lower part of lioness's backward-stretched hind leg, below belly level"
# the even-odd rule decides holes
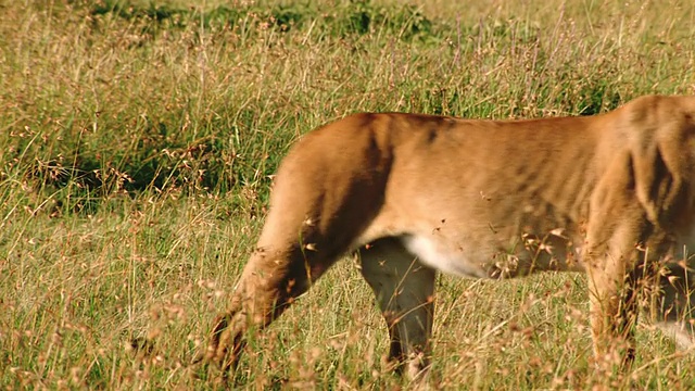
[[[227,311],[217,317],[205,356],[222,366],[224,377],[236,369],[247,335],[280,316],[349,250],[346,240],[288,211],[271,210]]]

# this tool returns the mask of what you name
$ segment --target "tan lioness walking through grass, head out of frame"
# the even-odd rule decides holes
[[[629,364],[641,282],[655,294],[654,319],[693,342],[694,228],[695,97],[530,121],[351,115],[304,136],[281,163],[257,249],[206,357],[235,366],[250,328],[266,327],[357,252],[388,324],[389,357],[410,378],[428,370],[438,270],[584,270],[596,362],[618,354]]]

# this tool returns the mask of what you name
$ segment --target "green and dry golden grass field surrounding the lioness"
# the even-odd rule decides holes
[[[198,3],[0,0],[0,386],[214,388],[188,363],[270,175],[328,121],[594,114],[695,92],[690,1]],[[633,373],[597,375],[586,313],[580,275],[442,276],[434,374],[446,389],[694,386],[693,358],[648,324]],[[237,376],[403,386],[386,352],[345,261],[250,342]]]

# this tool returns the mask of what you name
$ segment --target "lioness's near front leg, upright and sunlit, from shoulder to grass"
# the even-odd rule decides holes
[[[637,272],[648,261],[647,253],[640,249],[664,239],[647,220],[635,194],[640,185],[634,159],[626,151],[606,167],[590,201],[583,258],[589,274],[594,354],[596,364],[605,369],[626,369],[634,360]],[[660,247],[650,250],[649,257],[658,258]]]

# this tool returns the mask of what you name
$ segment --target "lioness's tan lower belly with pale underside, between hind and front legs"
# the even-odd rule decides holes
[[[391,200],[354,248],[381,238],[400,238],[420,263],[476,278],[508,278],[541,270],[583,270],[583,236],[553,205],[523,200],[456,201],[450,194]],[[429,194],[429,193],[428,193]]]

